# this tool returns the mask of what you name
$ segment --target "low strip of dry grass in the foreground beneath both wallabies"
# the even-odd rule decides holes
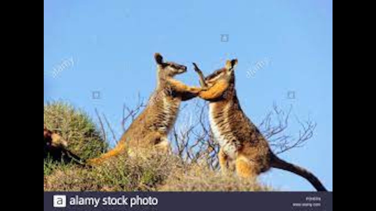
[[[45,191],[269,191],[252,179],[223,176],[174,155],[111,160],[96,167],[61,166],[44,178]]]

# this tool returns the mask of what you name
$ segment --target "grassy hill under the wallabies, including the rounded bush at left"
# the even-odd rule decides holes
[[[91,118],[72,106],[44,105],[44,124],[59,133],[67,148],[87,159],[97,157],[108,144]],[[102,166],[86,167],[44,159],[44,191],[269,191],[255,179],[224,176],[205,162],[186,163],[174,154],[121,157]]]

